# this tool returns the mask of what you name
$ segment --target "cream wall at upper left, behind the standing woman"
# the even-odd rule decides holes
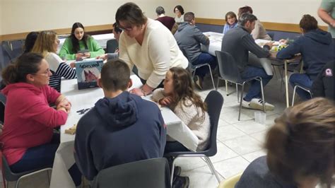
[[[0,0],[0,35],[71,28],[75,22],[103,25],[115,22],[119,0]],[[173,16],[177,0],[142,0],[138,4],[146,16],[156,18],[155,8],[163,6]]]

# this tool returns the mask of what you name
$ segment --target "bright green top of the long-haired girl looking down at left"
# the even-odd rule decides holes
[[[105,50],[103,50],[102,47],[99,46],[98,42],[94,40],[93,37],[88,37],[87,47],[88,50],[90,50],[90,57],[98,57],[102,54],[105,54]],[[83,40],[79,41],[79,48],[80,50],[85,49]],[[65,57],[66,60],[76,59],[76,52],[74,52],[70,37],[68,37],[64,41],[64,44],[59,51],[59,57],[61,57],[62,59]]]

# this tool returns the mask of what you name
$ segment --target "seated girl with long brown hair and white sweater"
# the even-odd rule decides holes
[[[199,139],[196,151],[204,151],[208,146],[211,130],[206,104],[200,96],[194,93],[189,72],[180,67],[172,67],[167,71],[164,88],[153,91],[153,100],[160,105],[170,107],[184,124],[189,127]],[[167,141],[165,153],[172,151],[189,151],[177,141]]]

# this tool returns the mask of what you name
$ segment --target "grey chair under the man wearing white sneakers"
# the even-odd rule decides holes
[[[218,51],[218,50],[215,53],[216,53],[216,58],[218,59],[218,70],[219,70],[218,83],[220,80],[225,80],[225,81],[236,83],[237,85],[242,86],[242,92],[241,92],[241,98],[240,98],[240,111],[238,112],[238,120],[240,121],[240,116],[241,116],[243,90],[245,88],[245,83],[249,81],[256,80],[256,81],[261,82],[261,99],[264,101],[263,111],[266,112],[265,100],[264,100],[264,90],[263,90],[263,83],[261,81],[261,77],[255,76],[247,80],[242,79],[240,76],[240,71],[238,71],[235,59],[229,53]],[[217,88],[218,88],[218,85],[216,86],[216,89]],[[237,89],[237,86],[236,86],[236,89]],[[238,93],[237,93],[237,98],[238,98]]]

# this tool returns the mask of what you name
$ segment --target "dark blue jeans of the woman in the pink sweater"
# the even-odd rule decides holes
[[[37,168],[52,168],[54,164],[54,154],[60,143],[59,134],[54,134],[52,140],[49,143],[45,143],[41,146],[35,146],[28,148],[23,154],[23,157],[18,162],[10,165],[11,171],[26,172]],[[74,180],[76,186],[81,184],[81,172],[79,171],[76,163],[71,166],[69,173]]]

